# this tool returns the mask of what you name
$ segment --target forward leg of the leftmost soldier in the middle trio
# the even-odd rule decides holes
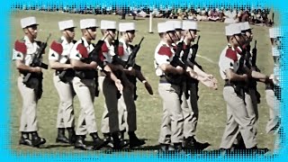
[[[182,148],[183,142],[183,112],[180,105],[180,87],[178,85],[159,84],[159,94],[166,103],[166,110],[171,119],[171,142],[175,149]]]

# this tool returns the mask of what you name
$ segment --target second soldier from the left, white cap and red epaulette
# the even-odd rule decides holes
[[[75,95],[72,79],[75,75],[69,61],[70,51],[76,42],[74,39],[75,28],[73,20],[58,22],[62,36],[59,40],[54,40],[49,49],[49,65],[55,69],[53,82],[59,96],[57,128],[57,142],[75,142],[75,117],[73,108],[73,98]],[[68,138],[65,136],[65,129],[68,131]]]

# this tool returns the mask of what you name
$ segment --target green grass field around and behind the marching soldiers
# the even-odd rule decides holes
[[[60,13],[46,13],[46,12],[14,12],[11,14],[11,51],[14,46],[14,40],[23,38],[23,31],[20,25],[20,19],[26,16],[35,16],[39,26],[38,40],[46,40],[49,32],[52,33],[49,44],[52,40],[60,37],[58,31],[58,21],[73,19],[78,26],[76,28],[76,40],[81,36],[79,29],[79,20],[84,18],[95,18],[100,24],[101,20],[114,20],[120,22],[135,22],[138,32],[133,44],[138,43],[142,36],[145,40],[142,42],[141,49],[137,61],[142,67],[145,76],[153,87],[155,94],[149,95],[144,86],[138,84],[139,99],[137,104],[137,120],[138,120],[138,134],[140,139],[147,139],[144,147],[157,145],[159,135],[160,122],[162,119],[162,103],[157,93],[158,78],[155,75],[153,60],[154,50],[159,42],[157,35],[157,23],[164,22],[166,19],[153,19],[154,33],[148,33],[148,19],[139,19],[133,21],[131,17],[127,16],[126,20],[120,20],[120,16],[115,15],[85,15],[85,14],[60,14]],[[199,42],[198,54],[202,57],[197,57],[196,60],[202,65],[204,70],[211,73],[219,81],[219,89],[212,90],[203,85],[200,85],[200,100],[199,100],[199,121],[197,127],[197,139],[200,141],[207,141],[211,144],[208,150],[218,149],[220,146],[220,139],[226,124],[226,103],[223,100],[222,88],[223,81],[220,79],[218,60],[221,50],[226,45],[226,37],[224,32],[225,23],[211,23],[200,22],[198,28],[201,35]],[[273,72],[273,58],[271,57],[271,46],[269,40],[269,33],[267,27],[253,26],[254,39],[257,40],[258,58],[257,65],[265,74]],[[102,37],[101,32],[97,32],[97,40]],[[254,42],[252,43],[254,46]],[[46,49],[48,53],[49,47]],[[12,52],[8,54],[12,58]],[[204,57],[204,58],[203,58]],[[211,62],[205,58],[211,59]],[[44,56],[44,62],[48,63],[48,55]],[[44,70],[43,80],[43,95],[38,103],[38,121],[40,126],[40,136],[47,139],[45,148],[37,149],[18,145],[20,138],[19,124],[22,107],[22,98],[17,88],[16,78],[18,72],[15,69],[14,62],[11,60],[11,148],[13,150],[30,152],[43,151],[46,153],[71,153],[79,152],[73,147],[65,144],[58,144],[55,142],[57,137],[56,118],[58,112],[58,94],[53,85],[52,74],[53,70]],[[268,121],[269,113],[265,97],[265,85],[258,84],[258,90],[261,94],[261,103],[258,105],[259,121],[257,123],[257,142],[258,148],[273,149],[274,137],[267,135],[265,128]],[[75,98],[75,113],[76,117],[79,112],[78,98]],[[94,110],[98,130],[101,130],[101,116],[103,113],[103,95],[101,94],[94,102]],[[77,119],[77,118],[76,118]],[[101,133],[100,133],[101,134]],[[101,134],[102,136],[102,134]],[[126,135],[127,137],[127,135]],[[87,140],[90,137],[86,138]],[[82,151],[80,151],[82,152]]]

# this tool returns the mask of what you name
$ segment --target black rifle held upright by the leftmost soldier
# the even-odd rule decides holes
[[[49,36],[48,36],[46,42],[42,42],[40,45],[40,48],[36,50],[36,53],[34,54],[34,57],[32,58],[32,62],[31,62],[30,67],[42,67],[42,68],[48,69],[48,65],[42,63],[40,59],[41,59],[42,54],[44,53],[44,51],[47,47],[47,41],[49,40],[50,36],[51,36],[51,34],[49,33]],[[36,73],[28,73],[23,78],[23,84],[29,85],[29,81],[30,81],[32,76],[37,77],[37,74]]]

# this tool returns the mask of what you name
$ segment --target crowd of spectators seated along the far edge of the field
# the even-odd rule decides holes
[[[15,9],[38,10],[47,12],[60,12],[70,14],[123,14],[129,16],[148,18],[151,13],[154,18],[193,20],[203,22],[238,23],[248,22],[261,26],[272,26],[274,23],[273,13],[269,8],[261,7],[171,7],[163,5],[141,7],[117,7],[107,5],[90,4],[60,4],[60,5],[14,5]]]

